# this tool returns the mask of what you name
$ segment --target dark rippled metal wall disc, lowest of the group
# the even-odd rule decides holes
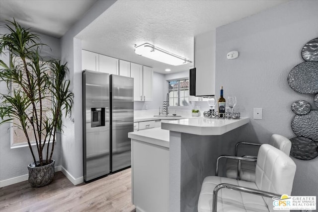
[[[292,148],[290,154],[301,160],[311,160],[318,156],[318,143],[305,138],[295,137],[290,139],[292,142]]]

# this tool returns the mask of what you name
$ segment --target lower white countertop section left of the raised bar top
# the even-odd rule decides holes
[[[169,148],[169,131],[161,128],[131,132],[128,138]]]

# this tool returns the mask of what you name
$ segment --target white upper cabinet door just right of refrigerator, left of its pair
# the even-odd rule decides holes
[[[130,77],[134,78],[134,101],[143,101],[143,66],[130,63]]]

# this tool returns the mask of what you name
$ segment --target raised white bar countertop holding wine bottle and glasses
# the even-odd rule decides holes
[[[209,119],[203,117],[173,120],[161,123],[161,129],[200,136],[222,135],[249,122],[240,119]]]

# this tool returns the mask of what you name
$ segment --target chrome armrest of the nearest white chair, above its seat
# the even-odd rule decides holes
[[[281,195],[279,194],[274,194],[271,192],[266,192],[262,190],[257,190],[257,189],[251,189],[243,186],[238,186],[238,185],[233,185],[233,184],[228,184],[228,183],[221,183],[217,185],[214,190],[213,190],[213,209],[212,212],[217,212],[217,203],[218,203],[218,191],[226,188],[226,189],[231,189],[239,192],[245,192],[249,194],[254,194],[254,195],[259,195],[263,197],[269,197],[269,198],[277,198],[280,199]]]

